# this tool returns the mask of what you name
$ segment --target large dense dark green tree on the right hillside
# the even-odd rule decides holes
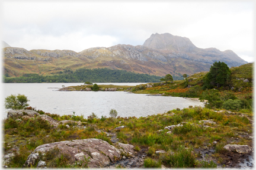
[[[224,62],[215,62],[210,67],[209,73],[203,77],[204,87],[213,89],[228,85],[231,80],[231,70]]]

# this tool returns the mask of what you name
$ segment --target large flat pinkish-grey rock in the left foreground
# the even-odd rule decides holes
[[[89,168],[103,168],[110,164],[110,162],[122,159],[122,152],[129,153],[130,155],[135,153],[132,145],[118,143],[118,147],[119,149],[101,139],[80,139],[44,144],[38,146],[28,156],[24,166],[31,166],[36,162],[47,160],[44,157],[40,158],[39,152],[46,153],[51,149],[58,149],[59,154],[68,154],[71,164],[89,158]]]

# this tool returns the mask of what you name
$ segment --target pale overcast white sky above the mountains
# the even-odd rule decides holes
[[[158,32],[254,61],[254,1],[2,1],[2,40],[27,50],[142,45]]]

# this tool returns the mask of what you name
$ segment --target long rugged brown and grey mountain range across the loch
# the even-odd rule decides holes
[[[247,62],[231,50],[198,48],[188,38],[168,33],[152,34],[143,45],[118,44],[94,47],[76,53],[72,50],[25,50],[5,47],[4,74],[22,76],[27,73],[56,74],[67,68],[110,68],[156,76],[181,76],[209,71],[215,61],[229,67]]]

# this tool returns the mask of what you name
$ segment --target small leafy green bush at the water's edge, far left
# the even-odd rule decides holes
[[[11,94],[11,96],[8,96],[5,98],[5,108],[6,109],[24,109],[24,107],[27,107],[30,100],[27,99],[27,96],[24,94],[18,94],[17,96],[14,94]]]

